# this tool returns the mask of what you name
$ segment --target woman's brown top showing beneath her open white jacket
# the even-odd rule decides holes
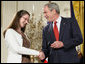
[[[20,33],[20,32],[18,32],[18,33]],[[26,36],[23,32],[20,34],[22,35],[22,38],[23,38],[23,47],[29,48],[30,47],[29,40],[26,38]],[[21,63],[30,63],[30,62],[31,62],[30,55],[22,54],[22,62]]]

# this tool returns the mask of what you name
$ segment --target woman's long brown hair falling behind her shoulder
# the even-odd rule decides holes
[[[12,28],[12,29],[16,30],[19,27],[20,18],[25,14],[28,14],[30,16],[30,14],[26,10],[20,10],[16,13],[12,23],[4,30],[4,32],[3,32],[4,37],[5,37],[5,33],[6,33],[7,29]],[[25,31],[25,27],[21,28],[21,30],[23,32]]]

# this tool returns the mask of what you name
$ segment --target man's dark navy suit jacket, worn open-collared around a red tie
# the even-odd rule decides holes
[[[50,44],[56,41],[53,25],[50,22],[43,29],[42,51],[48,57],[48,63],[77,63],[79,62],[76,46],[83,41],[80,28],[75,19],[63,18],[60,24],[59,41],[62,41],[64,47],[54,49]]]

